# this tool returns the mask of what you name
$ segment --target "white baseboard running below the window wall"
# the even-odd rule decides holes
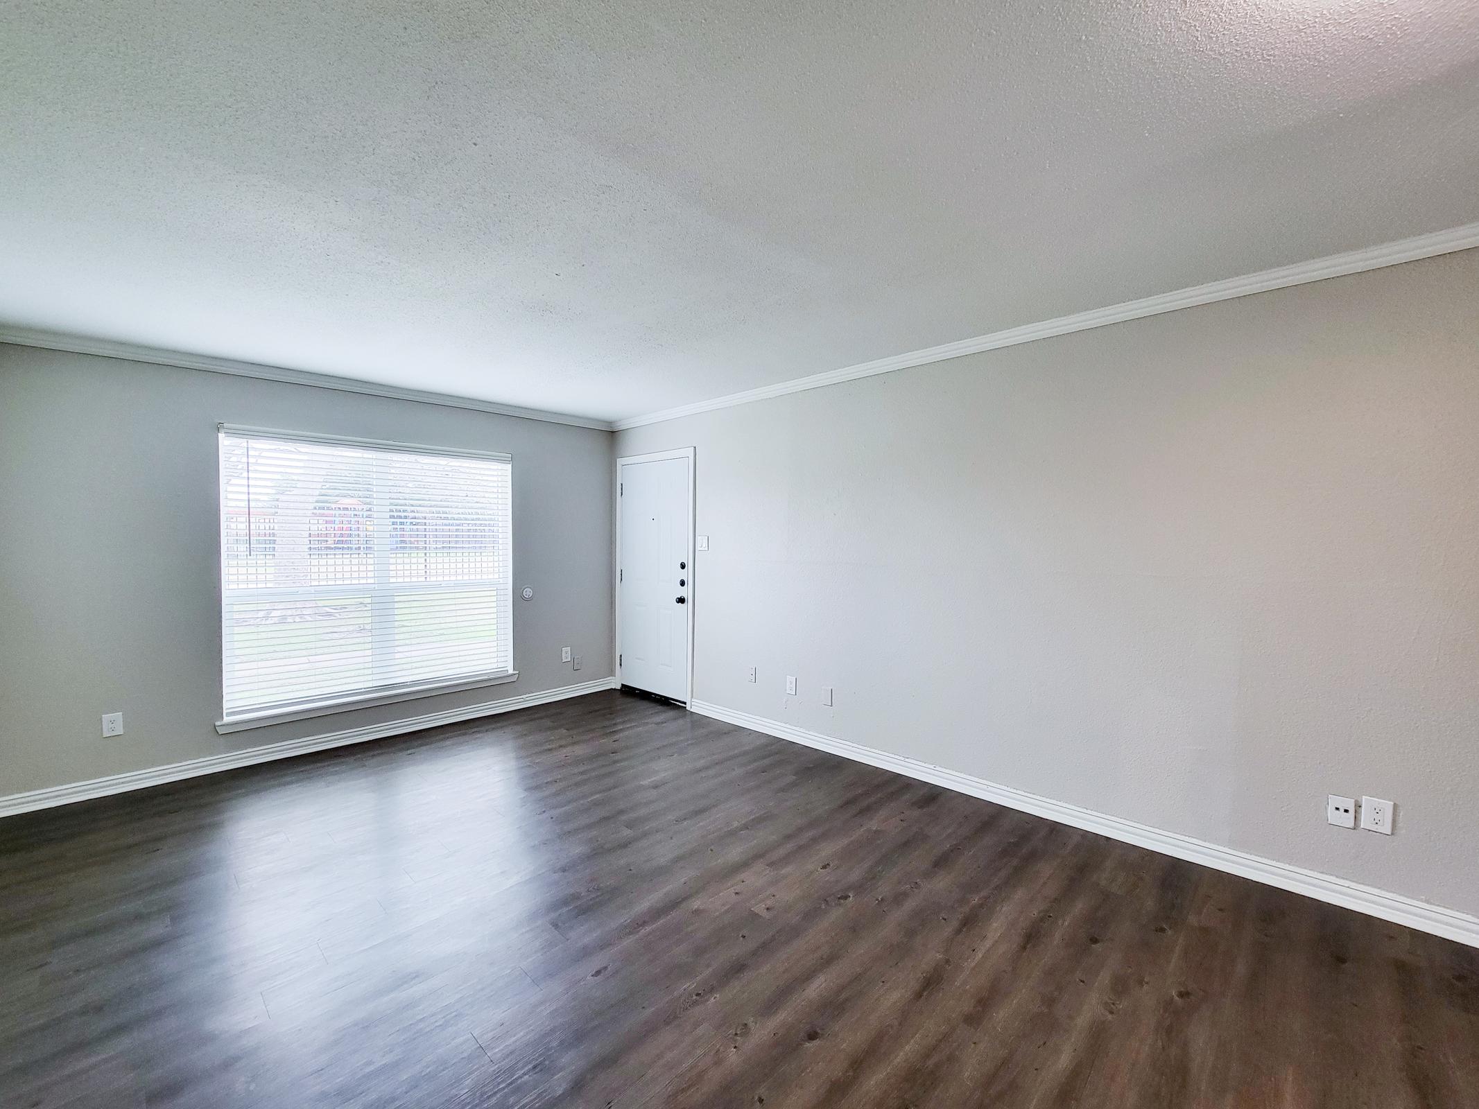
[[[563,701],[571,696],[583,696],[586,693],[596,693],[602,689],[615,688],[617,679],[602,677],[595,682],[581,682],[574,686],[546,689],[540,693],[521,693],[519,696],[506,696],[500,701],[484,701],[482,704],[464,705],[463,708],[448,708],[441,713],[423,713],[422,716],[402,717],[401,720],[389,720],[383,725],[346,728],[342,732],[322,732],[319,735],[303,736],[302,739],[285,739],[281,744],[248,747],[244,751],[228,751],[226,754],[213,754],[206,759],[191,759],[185,763],[154,766],[148,770],[132,770],[129,773],[115,773],[106,778],[93,778],[89,782],[74,782],[71,785],[53,785],[47,790],[16,793],[7,797],[0,797],[0,818],[15,816],[16,813],[33,812],[35,809],[53,809],[59,804],[87,801],[93,797],[108,797],[109,794],[127,793],[130,790],[146,790],[151,785],[177,782],[182,778],[200,778],[201,775],[219,773],[220,770],[235,770],[241,766],[269,763],[277,759],[291,759],[296,754],[325,751],[330,747],[348,747],[349,744],[362,744],[370,739],[385,739],[386,736],[402,735],[405,732],[420,732],[426,728],[454,725],[461,720],[473,720],[481,716],[512,713],[516,708],[532,708],[534,705],[549,704],[550,701]]]

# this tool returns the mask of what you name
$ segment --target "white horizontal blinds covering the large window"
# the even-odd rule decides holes
[[[513,668],[510,461],[220,429],[225,720]]]

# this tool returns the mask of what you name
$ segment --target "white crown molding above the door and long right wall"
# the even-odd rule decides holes
[[[1364,250],[1352,250],[1344,254],[1333,254],[1313,262],[1299,262],[1291,266],[1265,269],[1262,274],[1248,274],[1245,277],[1228,278],[1225,281],[1213,281],[1205,285],[1194,285],[1192,288],[1182,288],[1174,293],[1161,293],[1140,300],[1127,300],[1123,305],[1096,308],[1089,312],[1077,312],[1069,316],[1044,319],[1038,324],[1023,324],[1022,327],[1012,327],[1006,331],[992,331],[991,334],[976,336],[975,339],[961,339],[955,343],[942,343],[941,346],[930,346],[923,350],[911,350],[905,355],[879,358],[873,362],[861,362],[859,365],[849,365],[842,370],[828,370],[827,373],[812,374],[810,377],[797,377],[790,381],[762,386],[760,389],[747,389],[742,393],[716,396],[711,401],[697,401],[695,404],[685,404],[677,408],[664,408],[663,411],[648,413],[646,416],[632,416],[626,420],[615,420],[611,426],[614,430],[624,432],[630,427],[642,427],[649,423],[679,420],[685,416],[698,416],[700,413],[711,413],[719,408],[734,408],[735,405],[753,404],[754,401],[768,401],[772,396],[785,396],[787,393],[800,393],[806,389],[821,389],[828,384],[840,384],[842,381],[855,381],[859,377],[892,374],[896,370],[910,370],[916,365],[944,362],[950,358],[978,355],[984,350],[998,350],[1004,346],[1034,343],[1038,339],[1066,336],[1074,331],[1089,331],[1096,327],[1108,327],[1109,324],[1123,324],[1128,319],[1140,319],[1143,316],[1154,316],[1162,312],[1177,312],[1183,308],[1211,305],[1217,300],[1233,300],[1235,297],[1245,297],[1254,293],[1269,293],[1275,288],[1303,285],[1310,281],[1324,281],[1333,277],[1361,274],[1368,269],[1396,266],[1402,262],[1417,262],[1418,259],[1436,257],[1438,254],[1451,254],[1455,250],[1469,250],[1470,247],[1479,247],[1479,223],[1466,223],[1461,228],[1435,231],[1427,235],[1417,235],[1414,238],[1386,243],[1378,247],[1367,247]]]

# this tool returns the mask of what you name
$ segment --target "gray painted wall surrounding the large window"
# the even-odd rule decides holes
[[[509,451],[519,680],[216,735],[219,421]],[[0,346],[0,796],[608,677],[611,438]]]

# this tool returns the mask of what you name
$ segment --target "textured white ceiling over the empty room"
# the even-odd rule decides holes
[[[0,22],[0,321],[602,418],[1479,219],[1475,0]]]

